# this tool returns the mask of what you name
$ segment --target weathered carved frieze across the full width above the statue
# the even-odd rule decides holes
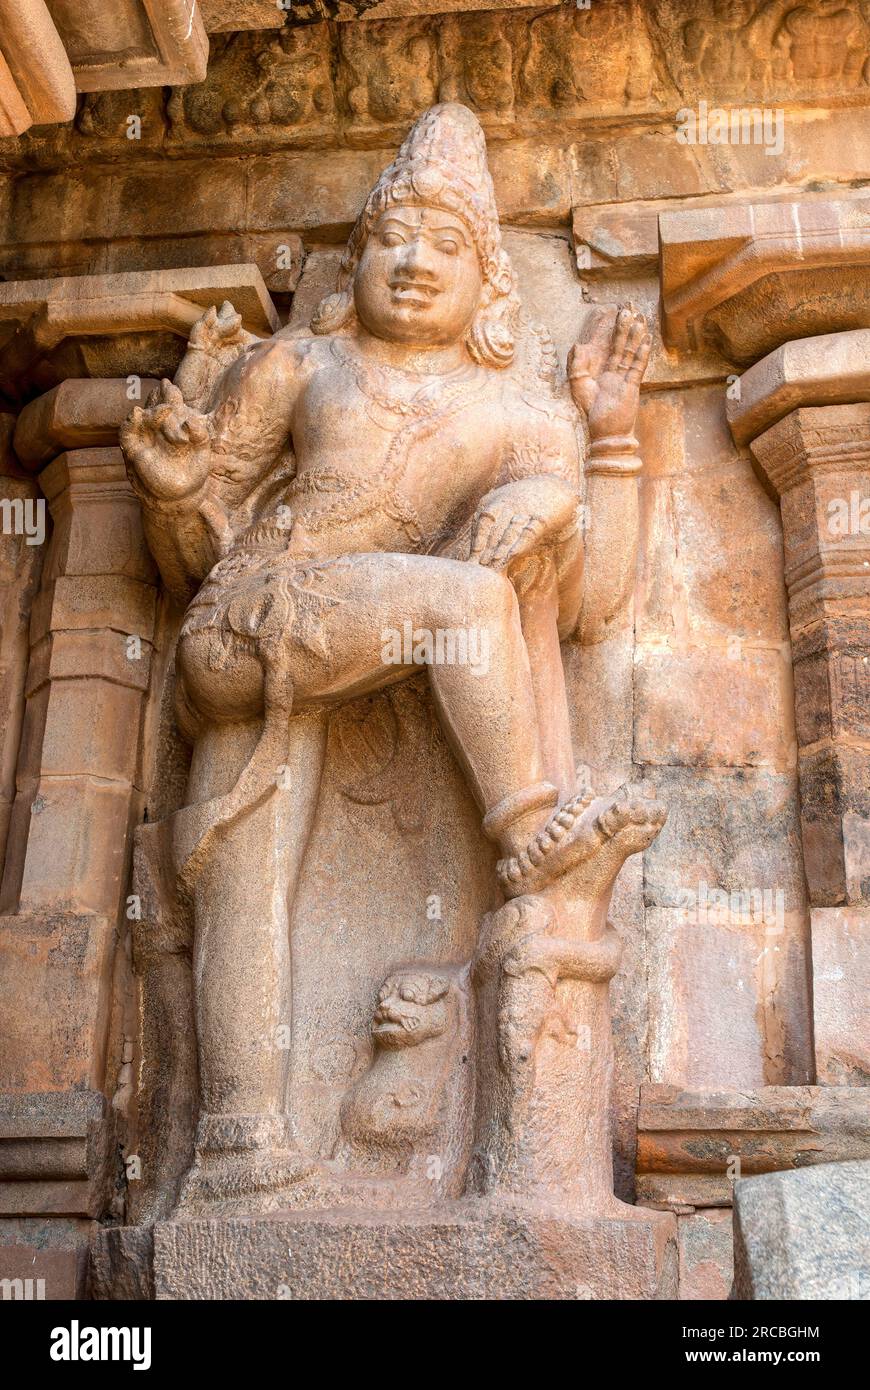
[[[157,6],[149,0],[146,8]],[[206,145],[218,153],[384,147],[438,100],[463,101],[489,138],[509,138],[578,135],[591,120],[670,120],[700,101],[770,103],[771,93],[778,106],[841,107],[870,97],[864,0],[737,0],[714,11],[706,0],[655,7],[607,0],[588,8],[567,0],[531,7],[293,0],[277,24],[282,11],[271,0],[210,0],[203,82],[164,74],[164,83],[177,85],[160,111],[153,92],[101,92],[72,129],[35,131],[0,143],[0,154],[13,164],[72,158],[81,154],[79,135],[92,146],[104,136],[101,153],[118,158],[156,146],[172,153]],[[145,72],[124,71],[131,86],[153,85]],[[78,85],[120,82],[115,74]],[[142,118],[142,139],[121,145],[131,114]]]

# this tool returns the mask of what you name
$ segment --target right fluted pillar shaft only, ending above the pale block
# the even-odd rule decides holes
[[[780,498],[803,859],[814,908],[870,895],[870,403],[799,406],[752,442]]]

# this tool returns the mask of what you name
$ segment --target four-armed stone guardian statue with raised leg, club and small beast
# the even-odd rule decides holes
[[[195,923],[200,1111],[182,1219],[499,1194],[632,1211],[612,1195],[607,905],[664,810],[578,781],[559,644],[600,639],[632,584],[649,346],[632,309],[592,311],[560,377],[518,302],[482,131],[445,104],[371,190],[310,332],[258,341],[211,309],[175,382],[124,425],[150,548],[188,603],[177,705],[193,762],[172,853]],[[486,632],[485,669],[427,642],[386,662],[385,631],[409,623]],[[498,847],[502,906],[464,974],[396,962],[372,999],[377,1070],[343,1105],[340,1152],[315,1161],[274,1033],[327,719],[420,660]],[[475,1049],[473,1095],[467,1070],[452,1080],[453,1038]],[[439,1126],[454,1158],[427,1187],[409,1145]]]

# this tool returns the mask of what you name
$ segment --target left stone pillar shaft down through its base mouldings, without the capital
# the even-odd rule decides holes
[[[50,431],[40,448],[51,452]],[[14,748],[10,728],[18,770],[0,917],[0,1237],[4,1272],[42,1279],[44,1297],[60,1298],[85,1291],[90,1222],[113,1190],[107,1048],[156,589],[117,449],[64,453],[40,482],[54,525],[29,612],[29,660],[24,637],[26,706]]]

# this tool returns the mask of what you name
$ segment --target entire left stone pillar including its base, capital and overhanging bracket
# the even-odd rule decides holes
[[[118,425],[129,374],[145,359],[172,375],[179,336],[228,292],[252,331],[277,327],[254,265],[0,292],[11,324],[1,389],[14,400],[53,385],[14,434],[24,470],[42,470],[39,484],[19,470],[17,486],[42,486],[53,532],[19,634],[26,709],[21,737],[8,721],[17,794],[0,890],[0,1254],[4,1273],[44,1277],[46,1298],[85,1291],[90,1225],[118,1191],[126,1131],[115,1120],[126,1119],[135,1045],[125,898],[146,692],[151,667],[157,689],[163,671],[151,660],[156,570]],[[139,399],[154,384],[139,379]]]

